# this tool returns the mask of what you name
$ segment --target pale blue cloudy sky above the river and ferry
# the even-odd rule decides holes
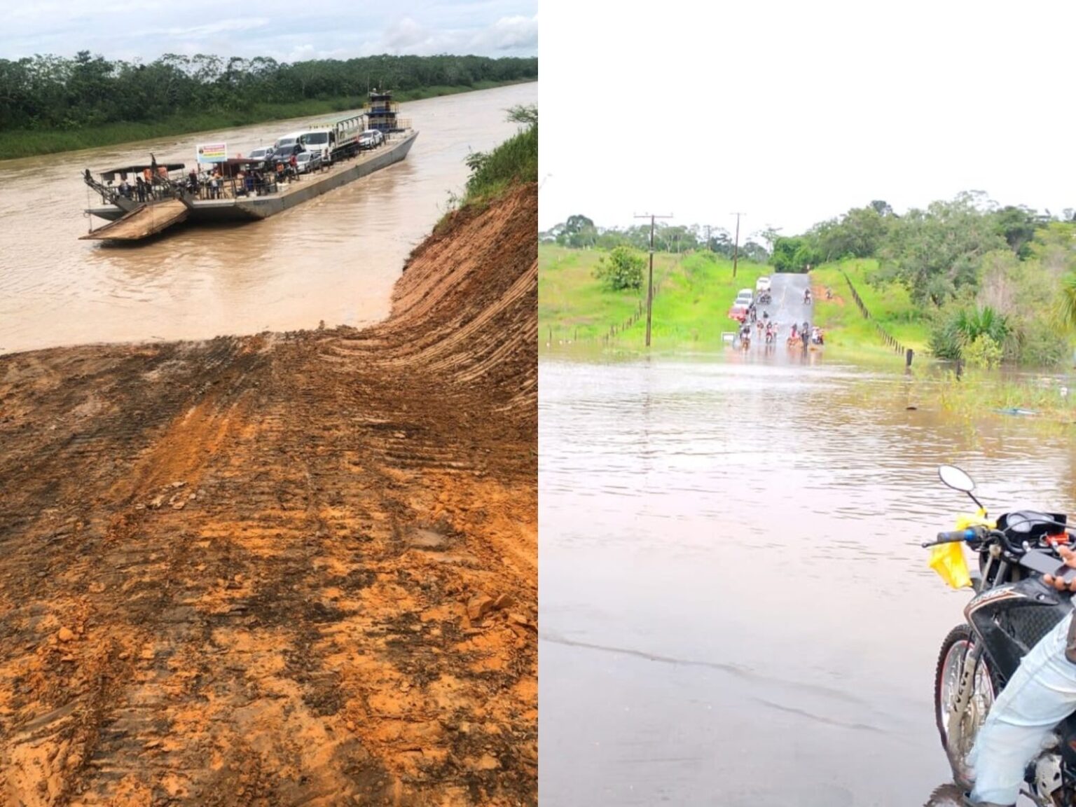
[[[32,0],[5,3],[0,58],[146,61],[166,53],[279,61],[371,54],[536,56],[538,0]]]

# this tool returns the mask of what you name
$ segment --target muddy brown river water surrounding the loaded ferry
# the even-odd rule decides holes
[[[77,240],[100,202],[84,169],[150,152],[192,164],[201,142],[246,154],[309,118],[0,162],[0,351],[377,322],[408,254],[462,192],[468,152],[514,133],[506,110],[537,99],[530,83],[404,102],[420,131],[404,162],[264,222],[137,245]]]

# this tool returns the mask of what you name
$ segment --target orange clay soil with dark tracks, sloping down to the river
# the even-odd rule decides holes
[[[0,358],[0,804],[537,804],[537,208],[366,330]]]

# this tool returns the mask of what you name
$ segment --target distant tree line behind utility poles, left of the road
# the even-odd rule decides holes
[[[598,249],[612,251],[618,246],[636,250],[650,249],[650,225],[633,227],[597,227],[584,215],[568,216],[568,221],[539,233],[542,241],[556,243],[576,250]],[[731,258],[735,249],[732,233],[720,227],[709,229],[698,225],[670,225],[659,223],[654,227],[654,249],[662,252],[688,253],[709,250]],[[739,256],[745,260],[764,264],[769,259],[769,251],[751,238],[739,244]]]

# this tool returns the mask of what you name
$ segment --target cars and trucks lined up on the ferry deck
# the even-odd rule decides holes
[[[255,148],[247,159],[264,160],[270,166],[293,166],[295,157],[296,173],[317,171],[385,142],[383,131],[365,128],[366,121],[366,115],[358,114],[314,124],[282,134],[271,146]]]

